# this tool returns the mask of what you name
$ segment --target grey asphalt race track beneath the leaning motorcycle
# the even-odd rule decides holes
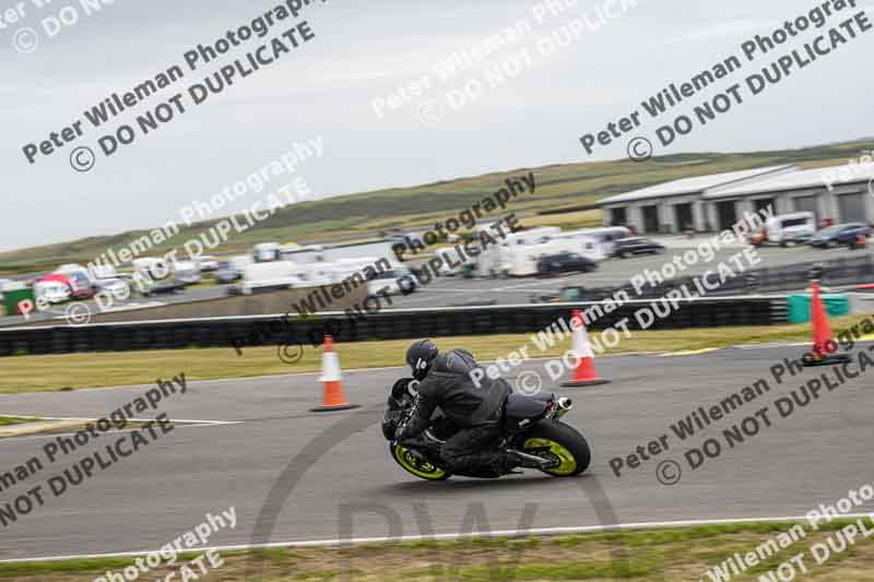
[[[733,450],[725,448],[696,471],[683,459],[688,446],[722,438],[724,428],[828,369],[807,369],[779,387],[771,381],[769,393],[685,443],[670,429],[693,408],[718,404],[758,378],[770,379],[773,364],[801,352],[772,346],[599,359],[599,372],[611,378],[611,384],[563,390],[576,402],[566,418],[586,435],[595,455],[590,471],[576,479],[529,472],[493,482],[424,483],[406,475],[388,458],[378,426],[387,388],[401,369],[346,372],[346,395],[363,407],[329,415],[308,412],[320,401],[317,375],[190,382],[185,395],[166,401],[163,411],[170,418],[239,424],[177,427],[66,495],[49,495],[44,507],[3,528],[0,558],[156,549],[203,521],[205,513],[231,506],[236,508],[237,527],[216,534],[212,546],[252,542],[262,508],[264,516],[275,519],[275,528],[264,527],[270,520],[262,522],[255,536],[260,543],[335,539],[347,508],[354,509],[355,537],[420,535],[428,533],[428,525],[438,534],[459,533],[465,531],[465,514],[470,522],[481,508],[491,528],[516,530],[525,503],[535,506],[530,526],[536,528],[803,515],[874,482],[874,370],[835,392],[824,390],[788,418],[772,412],[772,426],[763,426],[757,436]],[[342,346],[340,354],[342,360]],[[521,370],[542,370],[542,364],[530,361],[515,370],[510,382]],[[184,371],[156,370],[156,376]],[[7,395],[0,396],[0,405],[8,415],[98,417],[143,391],[133,387]],[[612,458],[626,456],[665,433],[669,451],[614,476]],[[0,470],[37,454],[46,440],[0,441]],[[0,492],[0,504],[75,459],[47,466]],[[668,460],[683,470],[673,486],[657,479],[657,465]],[[274,495],[265,506],[271,488]],[[386,516],[394,515],[401,532],[387,525]]]

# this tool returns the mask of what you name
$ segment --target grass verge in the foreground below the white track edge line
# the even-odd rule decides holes
[[[755,581],[782,561],[805,551],[810,572],[805,580],[871,580],[874,541],[858,538],[851,549],[816,566],[808,548],[824,543],[849,522],[836,521],[748,569],[732,581]],[[739,523],[582,534],[519,539],[473,538],[458,542],[368,544],[346,548],[272,548],[222,554],[223,566],[199,578],[205,581],[249,580],[709,580],[706,572],[735,553],[754,551],[788,532],[790,523]],[[194,556],[176,562],[179,568]],[[119,572],[133,559],[107,558],[0,565],[0,579],[74,582],[93,580],[107,571]],[[150,572],[163,579],[167,568]],[[200,572],[198,572],[200,573]],[[246,575],[248,574],[248,575]],[[351,578],[350,578],[351,574]]]

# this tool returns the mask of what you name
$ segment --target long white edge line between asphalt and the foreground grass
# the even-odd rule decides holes
[[[871,513],[846,513],[839,519],[871,519]],[[668,530],[673,527],[695,527],[698,525],[730,525],[736,523],[795,523],[807,521],[804,515],[780,516],[780,518],[732,518],[721,520],[687,520],[687,521],[662,521],[662,522],[639,522],[621,523],[616,525],[583,525],[571,527],[535,527],[531,530],[500,530],[496,532],[471,532],[471,533],[449,533],[434,535],[404,535],[399,537],[353,537],[350,539],[314,539],[305,542],[273,542],[270,544],[247,544],[237,546],[212,546],[193,547],[191,551],[243,551],[251,549],[270,548],[312,548],[312,547],[338,547],[361,544],[401,544],[405,542],[440,542],[453,539],[470,539],[474,537],[528,537],[532,535],[554,536],[572,534],[599,534],[617,531],[636,530]],[[122,551],[117,554],[86,554],[79,556],[50,556],[42,558],[15,558],[0,560],[0,563],[21,563],[21,562],[48,562],[60,560],[94,560],[103,558],[135,558],[157,551],[146,549],[141,551]]]

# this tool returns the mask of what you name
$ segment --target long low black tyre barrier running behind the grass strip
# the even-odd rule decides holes
[[[188,347],[245,347],[308,343],[321,345],[326,335],[338,342],[408,340],[452,335],[535,333],[574,309],[582,310],[587,326],[601,330],[628,318],[629,330],[640,329],[635,312],[652,301],[631,300],[464,308],[387,309],[368,317],[350,318],[329,312],[306,318],[243,316],[123,323],[94,323],[73,328],[66,323],[44,328],[0,330],[0,357],[80,352],[181,349]],[[721,325],[768,325],[787,322],[786,296],[682,299],[677,309],[648,329],[670,330]],[[61,320],[62,321],[62,320]]]

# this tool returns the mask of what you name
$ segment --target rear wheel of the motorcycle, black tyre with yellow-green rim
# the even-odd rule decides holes
[[[534,449],[534,450],[532,450]],[[548,449],[545,453],[540,452]],[[542,470],[554,477],[572,477],[587,468],[592,460],[589,443],[574,427],[555,420],[543,420],[525,432],[522,450],[539,456],[557,459],[559,465]],[[536,451],[535,450],[540,450]]]

